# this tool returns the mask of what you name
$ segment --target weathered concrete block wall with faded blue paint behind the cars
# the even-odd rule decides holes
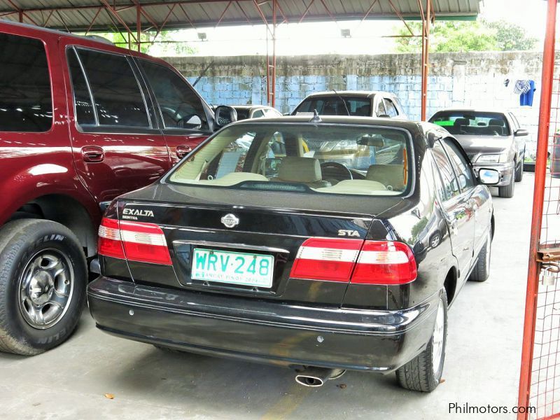
[[[265,57],[168,57],[207,102],[266,104]],[[509,109],[529,130],[534,153],[540,99],[539,52],[452,52],[430,55],[428,116],[450,106]],[[311,92],[386,90],[396,94],[407,116],[420,118],[420,57],[414,54],[281,56],[276,66],[276,108],[292,111]],[[510,87],[505,87],[505,79]],[[535,80],[533,106],[519,106],[515,80]]]

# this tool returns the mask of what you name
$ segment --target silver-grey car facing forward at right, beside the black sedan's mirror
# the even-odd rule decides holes
[[[475,171],[492,168],[500,173],[500,197],[513,197],[515,182],[523,178],[527,130],[510,111],[444,109],[430,123],[440,125],[459,141]]]

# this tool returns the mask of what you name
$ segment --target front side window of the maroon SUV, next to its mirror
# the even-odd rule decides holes
[[[200,128],[200,121],[189,123],[193,116],[202,120],[202,128],[207,128],[207,118],[202,101],[186,80],[166,66],[139,60],[148,82],[160,105],[163,123],[167,129]]]

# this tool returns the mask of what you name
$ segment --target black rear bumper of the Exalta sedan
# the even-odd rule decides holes
[[[392,372],[421,352],[438,295],[405,311],[303,307],[99,277],[87,299],[101,330],[213,356]]]

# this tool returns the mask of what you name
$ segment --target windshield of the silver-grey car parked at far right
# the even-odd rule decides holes
[[[510,125],[503,113],[442,111],[430,118],[430,123],[445,127],[451,134],[475,136],[509,136]]]

